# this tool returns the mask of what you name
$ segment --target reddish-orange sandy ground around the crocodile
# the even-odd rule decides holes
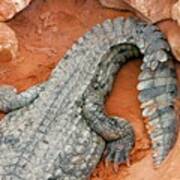
[[[108,10],[97,0],[34,0],[8,24],[17,34],[20,51],[12,61],[0,61],[0,84],[11,84],[19,91],[46,80],[73,42],[90,27],[107,18],[128,16]],[[91,180],[179,180],[180,138],[159,169],[154,169],[150,141],[144,128],[137,100],[137,76],[141,61],[126,64],[119,72],[107,99],[110,115],[127,118],[136,132],[131,165],[122,165],[115,173],[112,165],[100,162]],[[179,73],[180,74],[180,73]]]

